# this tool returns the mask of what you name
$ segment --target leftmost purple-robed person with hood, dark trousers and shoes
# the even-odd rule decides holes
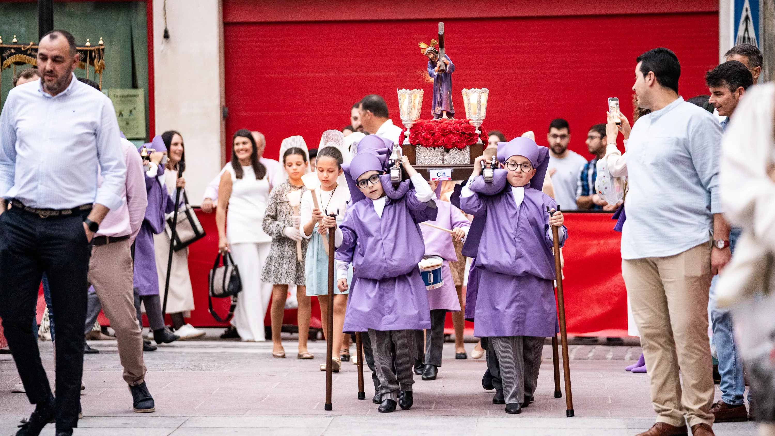
[[[153,235],[164,231],[166,222],[165,213],[174,211],[175,199],[172,198],[164,186],[164,161],[167,147],[161,136],[153,138],[149,148],[156,151],[150,154],[150,161],[145,164],[146,192],[148,194],[148,206],[140,232],[135,239],[134,255],[134,288],[135,308],[137,319],[140,317],[140,301],[146,309],[148,324],[153,331],[153,340],[157,344],[168,344],[180,337],[173,334],[164,325],[161,313],[161,301],[159,298],[159,276],[156,268],[156,252],[153,247]],[[185,186],[184,178],[177,179],[178,186]]]

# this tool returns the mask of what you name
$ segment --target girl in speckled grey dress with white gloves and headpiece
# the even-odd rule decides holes
[[[294,140],[294,138],[298,138]],[[288,286],[296,285],[298,300],[298,354],[297,358],[315,358],[307,351],[307,336],[309,334],[309,318],[312,314],[312,301],[307,296],[305,277],[305,253],[308,240],[301,237],[298,216],[298,206],[291,206],[291,192],[298,192],[298,200],[307,190],[301,175],[307,171],[309,157],[307,147],[301,137],[291,137],[283,140],[280,148],[281,163],[288,180],[275,185],[269,196],[267,213],[263,217],[263,230],[270,234],[272,247],[263,265],[261,280],[274,283],[272,290],[272,355],[284,358],[285,350],[281,339],[281,329],[285,311],[285,300],[288,298]],[[295,143],[294,147],[291,144]],[[304,148],[301,148],[301,147]],[[294,210],[295,209],[295,210]]]

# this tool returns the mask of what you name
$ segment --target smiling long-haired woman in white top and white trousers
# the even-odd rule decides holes
[[[232,325],[243,341],[266,341],[263,318],[272,283],[261,282],[260,274],[272,238],[261,229],[261,223],[269,191],[267,168],[258,161],[253,135],[250,130],[237,130],[232,138],[232,160],[226,164],[219,184],[215,223],[219,249],[231,252],[242,279],[243,290],[237,298]]]

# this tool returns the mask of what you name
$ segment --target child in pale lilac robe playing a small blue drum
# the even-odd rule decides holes
[[[423,344],[423,332],[417,330],[415,342],[417,355],[415,355],[415,374],[420,372],[423,380],[435,380],[441,366],[441,355],[444,347],[444,321],[447,312],[460,311],[460,300],[457,298],[455,282],[452,279],[452,271],[449,262],[458,261],[455,253],[454,240],[462,240],[468,234],[471,223],[460,209],[450,202],[439,199],[441,196],[441,183],[430,182],[435,191],[434,202],[439,213],[436,220],[429,221],[436,227],[452,230],[452,234],[436,227],[420,226],[422,238],[425,240],[425,254],[439,256],[443,259],[441,267],[443,285],[428,291],[428,304],[431,310],[431,328],[425,330],[425,347]],[[465,259],[463,259],[465,261]]]

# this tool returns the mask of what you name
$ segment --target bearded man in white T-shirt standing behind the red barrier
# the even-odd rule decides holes
[[[576,189],[587,159],[568,150],[570,125],[562,118],[549,123],[546,140],[549,142],[549,176],[552,178],[554,199],[560,209],[576,210]]]

